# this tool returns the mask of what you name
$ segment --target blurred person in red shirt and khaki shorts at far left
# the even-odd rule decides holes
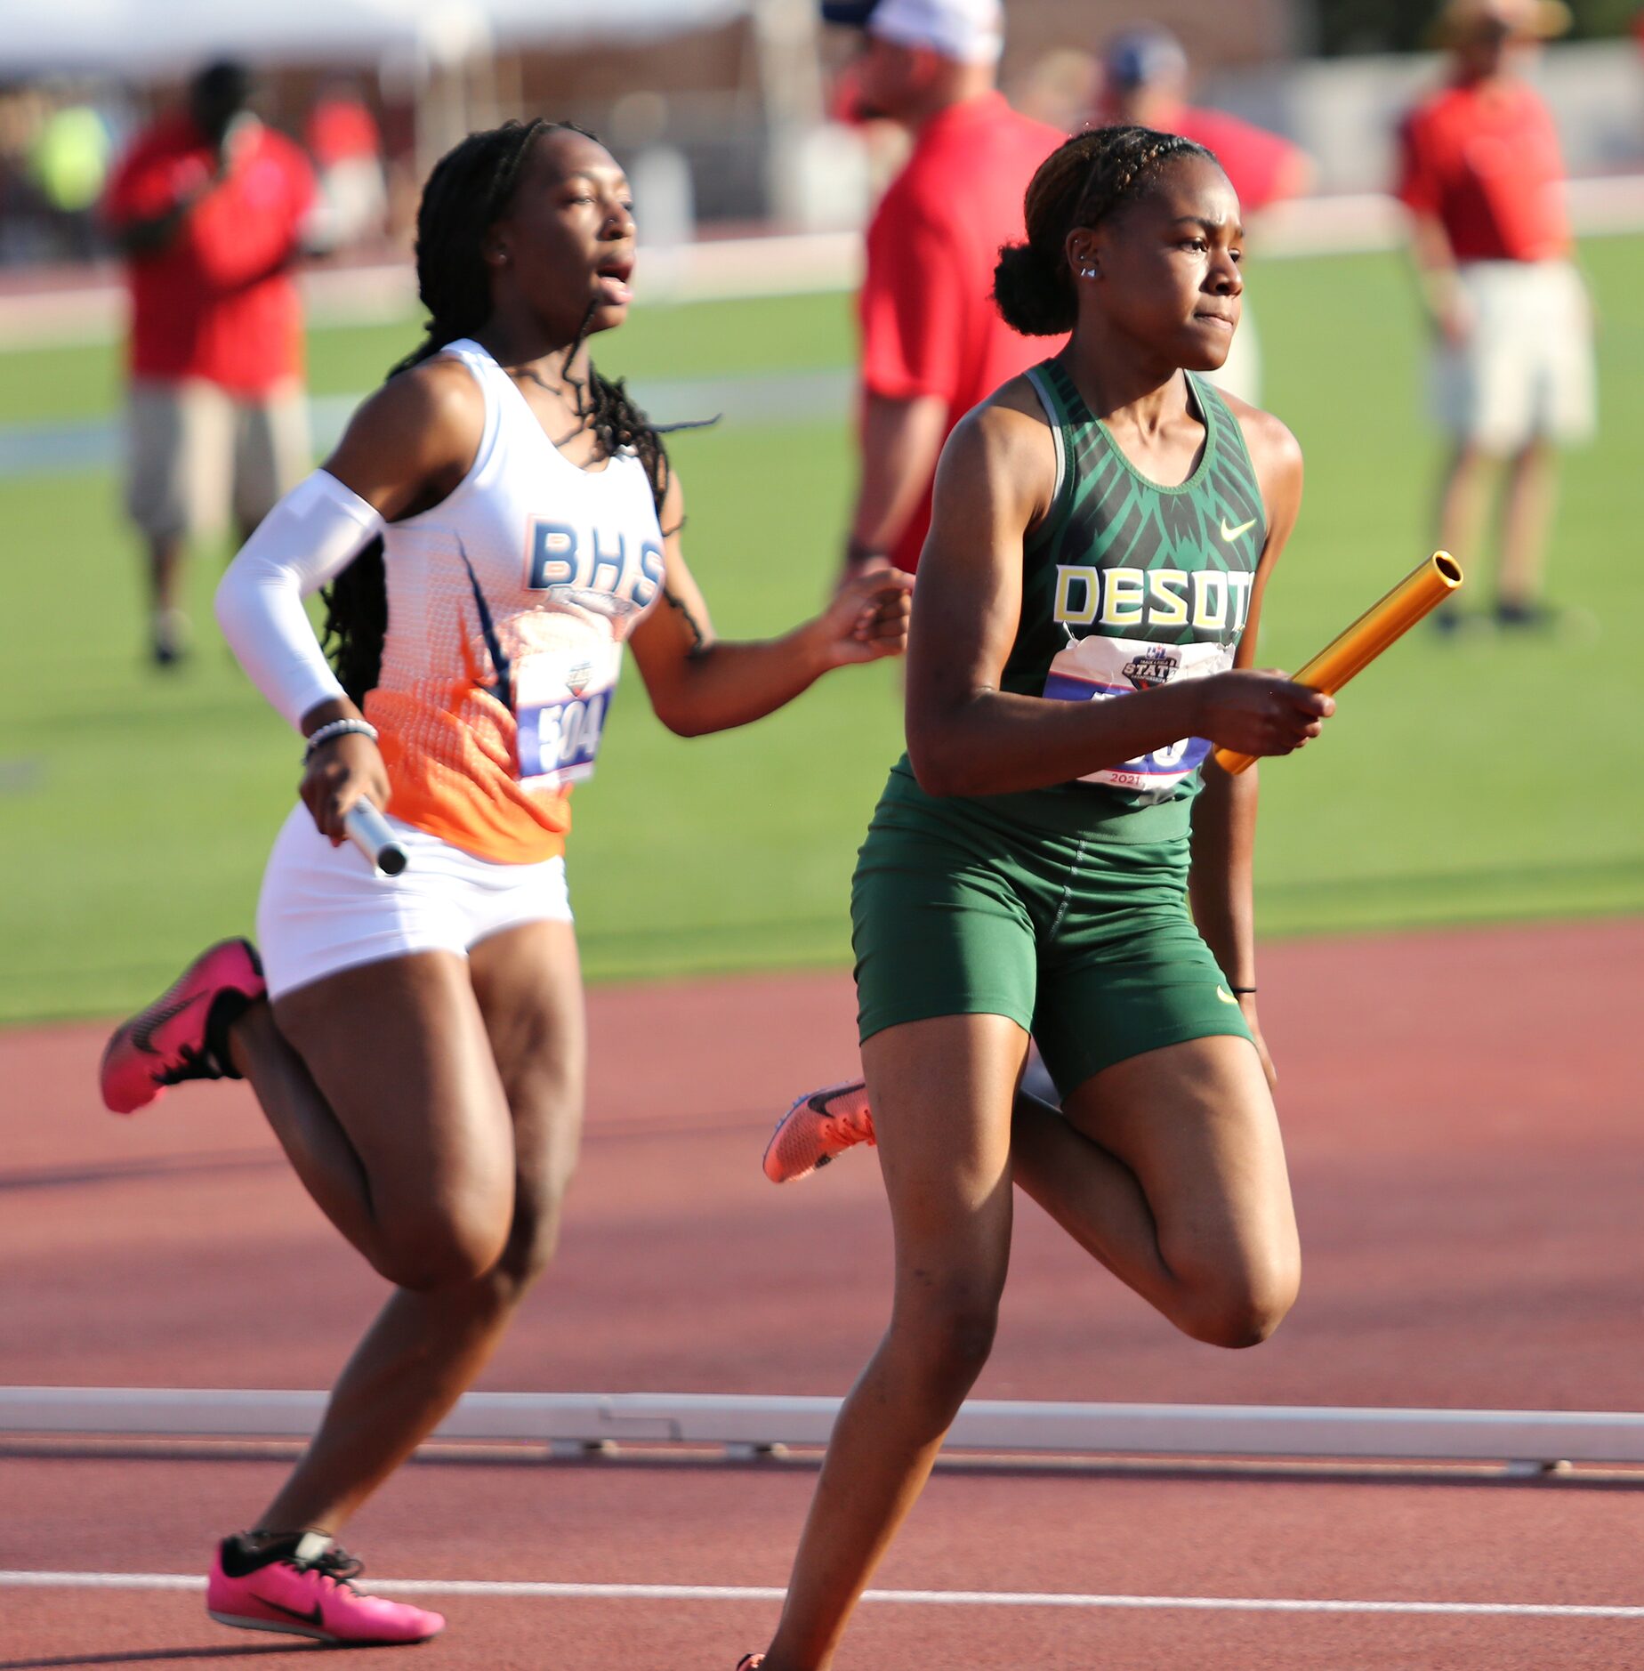
[[[291,267],[314,177],[249,100],[239,63],[200,70],[104,199],[130,289],[125,506],[147,541],[160,667],[185,650],[189,538],[221,533],[231,508],[244,538],[311,465]]]

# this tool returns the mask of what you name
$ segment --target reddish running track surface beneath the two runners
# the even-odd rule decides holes
[[[1271,947],[1307,1280],[1260,1352],[1170,1332],[1022,1203],[979,1395],[1641,1409],[1644,924]],[[488,1387],[839,1394],[885,1312],[870,1156],[777,1191],[775,1110],[852,1059],[839,976],[601,991],[560,1267]],[[242,1088],[114,1121],[95,1029],[0,1036],[0,1380],[319,1387],[379,1297]],[[277,1273],[277,1277],[274,1277]],[[271,1280],[274,1278],[274,1280]],[[271,1462],[0,1455],[0,1569],[197,1572]],[[419,1465],[378,1576],[780,1584],[805,1467]],[[1637,1604],[1641,1497],[1572,1486],[941,1474],[875,1584]],[[772,1602],[458,1597],[436,1668],[730,1671]],[[194,1594],[0,1587],[0,1671],[304,1653]],[[867,1604],[839,1671],[1622,1668],[1644,1621]]]

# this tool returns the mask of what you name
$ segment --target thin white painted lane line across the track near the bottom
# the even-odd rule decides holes
[[[0,1589],[204,1589],[189,1572],[5,1572]],[[540,1596],[570,1601],[780,1601],[769,1584],[526,1584],[490,1579],[383,1579],[369,1589],[416,1596]],[[1644,1606],[1512,1601],[1327,1601],[1265,1596],[1081,1596],[1022,1589],[870,1589],[864,1601],[939,1608],[1111,1608],[1200,1613],[1415,1613],[1509,1619],[1644,1619]]]

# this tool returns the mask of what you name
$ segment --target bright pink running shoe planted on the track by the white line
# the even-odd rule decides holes
[[[281,1537],[252,1549],[224,1537],[206,1582],[206,1611],[242,1631],[312,1636],[339,1646],[426,1643],[444,1629],[438,1613],[361,1596],[361,1564],[324,1532]]]

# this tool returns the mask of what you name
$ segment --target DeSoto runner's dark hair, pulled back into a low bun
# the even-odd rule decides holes
[[[1053,150],[1028,185],[1028,242],[1006,244],[994,267],[994,302],[1022,336],[1061,336],[1079,317],[1068,271],[1068,234],[1148,197],[1181,157],[1213,152],[1151,127],[1091,127]]]

